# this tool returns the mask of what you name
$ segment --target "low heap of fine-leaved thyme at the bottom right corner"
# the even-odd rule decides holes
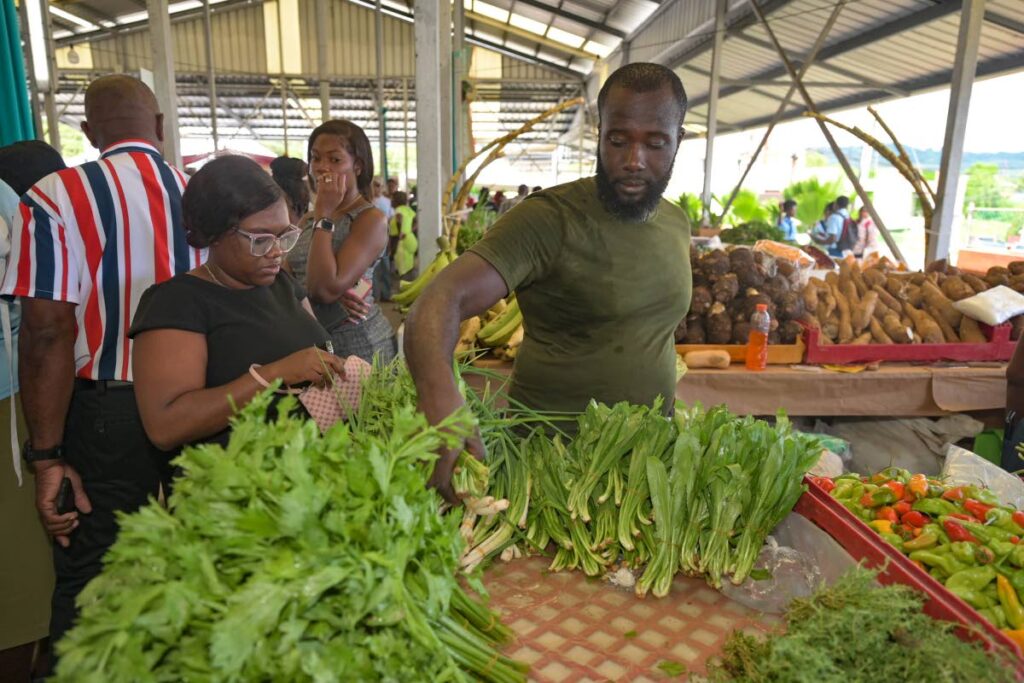
[[[874,681],[1016,681],[1009,653],[992,655],[962,641],[953,625],[922,611],[906,586],[880,587],[855,569],[834,586],[795,600],[785,633],[758,639],[735,631],[713,683],[867,683]]]

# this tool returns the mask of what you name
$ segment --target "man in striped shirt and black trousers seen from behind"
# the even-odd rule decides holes
[[[56,542],[54,643],[114,543],[115,512],[137,509],[168,480],[167,455],[146,439],[135,405],[126,333],[142,292],[201,258],[185,243],[185,178],[161,156],[163,115],[153,92],[127,76],[97,79],[85,93],[85,117],[82,131],[102,154],[22,198],[0,287],[23,304],[25,459]],[[65,478],[67,512],[57,508]]]

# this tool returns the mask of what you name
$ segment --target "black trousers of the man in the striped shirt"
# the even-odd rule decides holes
[[[65,460],[82,477],[92,512],[79,516],[71,545],[53,544],[50,642],[71,629],[78,611],[75,598],[102,568],[114,544],[115,512],[137,510],[161,483],[170,481],[169,454],[150,442],[131,385],[108,387],[78,381],[65,427]]]

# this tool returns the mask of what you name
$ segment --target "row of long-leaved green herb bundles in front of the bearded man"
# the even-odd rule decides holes
[[[488,463],[490,493],[509,508],[463,520],[462,564],[552,545],[552,570],[642,568],[641,596],[667,595],[678,571],[739,584],[819,454],[781,415],[771,425],[697,407],[670,421],[658,404],[591,403],[571,441],[538,432]]]

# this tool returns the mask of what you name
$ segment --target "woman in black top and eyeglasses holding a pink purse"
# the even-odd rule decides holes
[[[231,401],[263,389],[256,376],[322,385],[328,370],[343,374],[319,350],[330,337],[305,292],[281,269],[299,230],[270,176],[221,157],[193,177],[181,208],[188,244],[208,260],[146,290],[129,332],[142,424],[164,450],[226,440]]]

